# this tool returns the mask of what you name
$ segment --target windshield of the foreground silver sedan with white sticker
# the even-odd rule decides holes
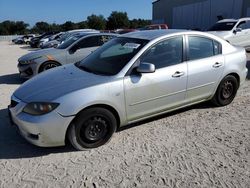
[[[135,38],[114,38],[75,65],[94,74],[116,75],[148,42]]]

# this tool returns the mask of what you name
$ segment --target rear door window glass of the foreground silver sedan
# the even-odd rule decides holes
[[[188,60],[196,60],[221,54],[221,44],[217,41],[197,37],[188,37]]]

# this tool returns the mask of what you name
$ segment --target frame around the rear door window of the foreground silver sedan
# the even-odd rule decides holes
[[[210,57],[204,57],[204,58],[199,58],[199,59],[191,59],[189,58],[189,37],[199,37],[199,38],[204,38],[204,39],[208,39],[208,40],[211,40],[212,43],[213,43],[213,56],[210,56]],[[215,55],[215,52],[214,52],[214,42],[218,42],[219,43],[219,54]],[[211,58],[211,57],[215,57],[215,56],[218,56],[218,55],[222,55],[222,44],[213,39],[213,38],[210,38],[210,37],[206,37],[206,36],[200,36],[200,35],[195,35],[195,34],[190,34],[190,35],[186,35],[186,61],[196,61],[196,60],[201,60],[201,59],[206,59],[206,58]]]

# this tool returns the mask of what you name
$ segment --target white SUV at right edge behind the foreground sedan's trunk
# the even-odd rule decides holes
[[[250,18],[220,20],[208,31],[233,45],[250,47]]]

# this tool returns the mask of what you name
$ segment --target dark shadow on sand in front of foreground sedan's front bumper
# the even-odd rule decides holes
[[[10,124],[8,110],[0,110],[0,160],[40,157],[55,153],[75,151],[67,144],[63,147],[41,148],[28,143],[18,132],[18,128]]]

